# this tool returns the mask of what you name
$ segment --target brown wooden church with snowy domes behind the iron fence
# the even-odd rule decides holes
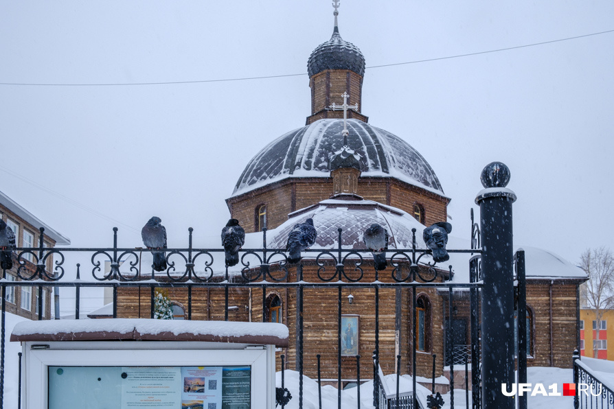
[[[262,231],[266,228],[266,247],[284,249],[293,226],[308,218],[317,229],[317,242],[312,250],[334,252],[339,239],[345,250],[364,250],[363,233],[373,223],[387,229],[389,255],[396,249],[411,248],[414,237],[416,246],[424,248],[422,231],[435,222],[446,222],[450,198],[444,194],[426,159],[407,143],[408,138],[416,136],[401,138],[372,126],[361,111],[365,58],[358,47],[341,38],[336,8],[332,36],[308,58],[308,74],[311,114],[305,126],[287,132],[255,154],[226,200],[231,218],[239,220],[247,233],[247,242],[253,244],[249,248],[262,246]],[[415,236],[412,229],[416,229]],[[451,237],[448,248],[468,248],[469,242],[468,237],[465,240]],[[248,248],[247,243],[244,248]],[[528,364],[570,367],[571,353],[580,343],[578,286],[586,276],[554,253],[524,249]],[[435,375],[442,375],[449,363],[445,360],[448,331],[453,333],[455,346],[470,344],[467,291],[454,292],[453,316],[448,321],[447,292],[420,288],[414,304],[410,288],[380,288],[376,328],[374,288],[349,290],[334,285],[337,281],[334,262],[326,257],[317,259],[317,254],[304,253],[300,266],[288,267],[287,277],[279,264],[271,264],[271,274],[280,274],[287,283],[299,278],[310,283],[332,281],[328,288],[305,288],[302,305],[298,305],[295,288],[247,285],[246,270],[241,274],[246,267],[242,265],[231,269],[231,281],[246,285],[231,288],[228,306],[225,290],[219,287],[194,287],[190,295],[185,288],[164,291],[177,307],[175,318],[187,318],[190,296],[192,320],[227,317],[287,325],[291,346],[278,353],[285,355],[288,369],[298,369],[297,351],[302,345],[305,374],[317,376],[320,355],[321,377],[331,382],[337,379],[339,355],[344,384],[356,379],[356,355],[363,357],[363,377],[371,377],[373,366],[369,358],[376,331],[384,373],[396,371],[397,355],[401,357],[400,373],[412,373],[416,350],[416,375],[431,376],[433,354]],[[392,261],[389,260],[386,270],[376,272],[369,253],[363,253],[363,257],[361,269],[356,269],[355,258],[345,259],[344,272],[350,280],[363,274],[364,282],[372,283],[376,278],[381,283],[395,282]],[[448,264],[437,266],[434,282],[468,283],[468,258],[453,256],[451,270]],[[398,260],[396,264],[399,267],[394,274],[407,274],[407,261],[404,264]],[[431,277],[427,265],[421,266],[420,271],[423,277]],[[223,264],[214,268],[214,275],[218,281],[224,279]],[[117,316],[149,318],[150,300],[148,288],[120,288]],[[299,320],[304,329],[302,337]],[[448,322],[452,323],[451,328],[446,328]]]

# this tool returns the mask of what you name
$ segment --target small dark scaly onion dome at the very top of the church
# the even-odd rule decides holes
[[[363,53],[354,44],[341,38],[336,25],[330,40],[313,50],[307,61],[310,77],[326,69],[349,69],[361,76],[365,75]]]

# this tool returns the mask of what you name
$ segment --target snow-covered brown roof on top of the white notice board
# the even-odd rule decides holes
[[[43,320],[15,325],[11,341],[204,341],[288,347],[288,327],[278,323],[153,320]]]

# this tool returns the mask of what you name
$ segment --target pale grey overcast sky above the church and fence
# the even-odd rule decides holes
[[[225,199],[266,143],[310,115],[307,59],[330,0],[0,1],[0,190],[72,246],[170,247],[218,237]],[[577,263],[614,249],[614,32],[477,56],[369,68],[614,30],[612,1],[341,1],[363,52],[363,114],[431,164],[454,234],[491,161],[512,172],[514,244]],[[77,204],[76,204],[77,203]],[[84,209],[87,208],[87,209]],[[102,215],[102,216],[100,216]],[[113,219],[113,220],[111,220]]]

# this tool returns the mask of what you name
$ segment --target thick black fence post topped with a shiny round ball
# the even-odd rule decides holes
[[[482,408],[513,409],[513,397],[501,384],[514,382],[514,246],[512,203],[516,194],[506,189],[510,170],[492,162],[480,177],[484,190],[475,202],[480,207],[482,303]]]

